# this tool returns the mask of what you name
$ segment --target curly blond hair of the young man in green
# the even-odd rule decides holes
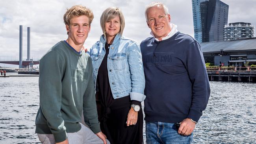
[[[93,12],[91,11],[91,9],[82,5],[72,6],[70,9],[67,9],[67,12],[63,15],[64,23],[69,26],[70,20],[73,17],[82,16],[82,15],[85,15],[89,18],[89,26],[91,26],[91,22],[93,21],[93,18],[94,18]],[[67,32],[67,34],[69,34],[69,32]]]

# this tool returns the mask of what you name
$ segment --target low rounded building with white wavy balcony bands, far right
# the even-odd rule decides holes
[[[225,25],[225,41],[254,37],[254,26],[247,22],[234,22]]]

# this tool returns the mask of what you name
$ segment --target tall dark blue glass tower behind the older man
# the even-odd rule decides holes
[[[224,40],[228,5],[220,0],[192,0],[194,37],[198,42]]]

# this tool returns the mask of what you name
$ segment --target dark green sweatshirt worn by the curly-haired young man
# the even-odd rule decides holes
[[[53,134],[56,142],[81,129],[81,116],[94,133],[100,132],[91,58],[78,54],[65,41],[58,42],[41,58],[40,106],[35,133]]]

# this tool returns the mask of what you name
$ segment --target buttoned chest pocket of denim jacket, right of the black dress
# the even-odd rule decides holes
[[[118,53],[109,56],[109,59],[111,60],[111,63],[113,64],[115,70],[123,70],[125,68],[126,54]]]

